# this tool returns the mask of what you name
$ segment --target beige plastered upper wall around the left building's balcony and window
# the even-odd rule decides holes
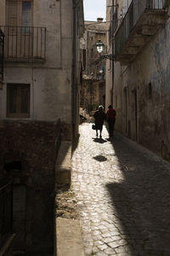
[[[6,118],[7,83],[31,84],[31,117],[61,119],[71,124],[72,2],[33,1],[33,26],[46,27],[44,63],[5,63],[0,90],[0,118]],[[1,15],[2,14],[2,15]],[[5,1],[0,0],[0,25],[5,25]]]

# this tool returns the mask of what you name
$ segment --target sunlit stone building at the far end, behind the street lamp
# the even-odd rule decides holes
[[[106,52],[106,23],[103,18],[85,21],[85,32],[81,39],[83,51],[83,76],[80,106],[88,110],[105,106],[105,59],[99,58],[96,43],[101,40]]]

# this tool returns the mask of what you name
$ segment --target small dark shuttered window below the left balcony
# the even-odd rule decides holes
[[[7,84],[7,117],[30,117],[30,84]]]

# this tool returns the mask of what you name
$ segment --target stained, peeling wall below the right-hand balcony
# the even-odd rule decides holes
[[[169,28],[167,20],[127,67],[116,63],[114,90],[114,100],[122,98],[122,133],[166,160],[170,160]]]

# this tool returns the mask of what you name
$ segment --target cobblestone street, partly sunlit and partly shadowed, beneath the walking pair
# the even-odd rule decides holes
[[[80,207],[85,255],[170,255],[170,164],[104,127],[80,125],[72,189]],[[75,255],[79,256],[79,255]]]

